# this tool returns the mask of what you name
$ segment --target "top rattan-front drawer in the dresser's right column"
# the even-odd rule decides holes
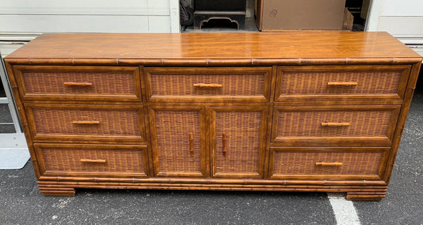
[[[282,66],[275,101],[401,100],[410,65]]]

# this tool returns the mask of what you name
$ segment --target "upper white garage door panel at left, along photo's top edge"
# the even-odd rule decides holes
[[[169,15],[169,0],[0,0],[0,14]]]

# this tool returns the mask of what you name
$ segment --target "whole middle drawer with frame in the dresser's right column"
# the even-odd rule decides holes
[[[272,141],[284,144],[392,143],[400,105],[331,105],[274,108]]]

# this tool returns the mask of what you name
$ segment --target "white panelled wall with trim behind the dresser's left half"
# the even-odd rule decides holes
[[[0,0],[0,33],[179,32],[178,0]]]

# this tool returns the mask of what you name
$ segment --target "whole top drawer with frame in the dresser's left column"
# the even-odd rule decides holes
[[[24,100],[141,101],[137,67],[18,65]]]

